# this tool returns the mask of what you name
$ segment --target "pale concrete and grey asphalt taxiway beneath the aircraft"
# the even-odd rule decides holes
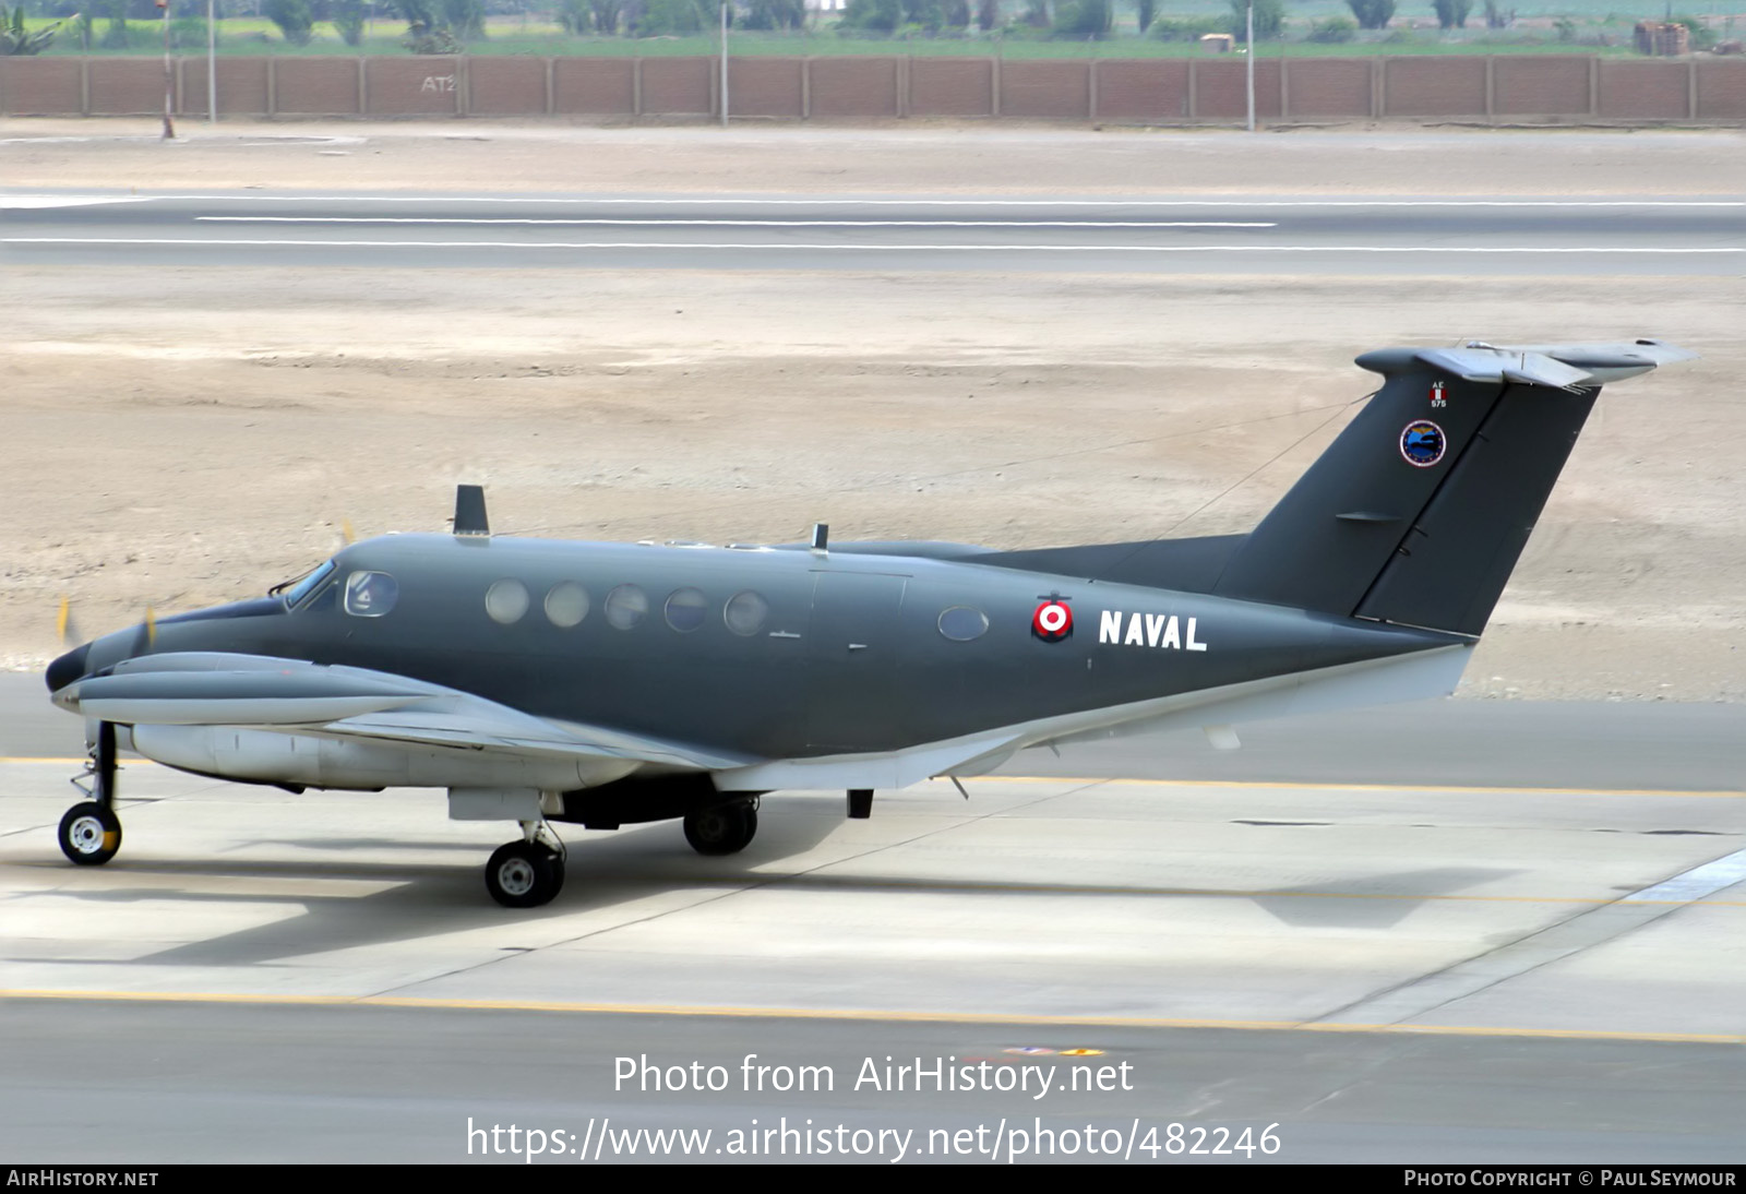
[[[1488,752],[1472,735],[1495,709],[1510,716]],[[864,1159],[883,1161],[897,1136],[880,1129],[915,1133],[906,1161],[929,1142],[929,1159],[986,1161],[1021,1126],[1027,1147],[1095,1129],[1159,1163],[1196,1159],[1163,1150],[1196,1128],[1206,1147],[1271,1128],[1282,1161],[1739,1163],[1741,719],[1612,709],[1613,730],[1639,714],[1674,744],[1662,784],[1400,782],[1416,740],[1341,758],[1365,742],[1355,719],[1294,747],[1306,775],[1344,780],[1268,779],[1268,758],[1219,780],[1096,779],[1193,758],[1137,738],[1058,759],[1072,777],[973,780],[969,803],[946,784],[882,793],[868,822],[843,820],[840,793],[772,796],[733,859],[690,854],[670,824],[573,831],[569,885],[533,913],[485,899],[505,833],[443,820],[438,793],[290,796],[148,765],[124,775],[122,854],[75,869],[52,841],[73,768],[14,758],[0,1154],[464,1161],[471,1117],[574,1133],[567,1161],[585,1133],[630,1159],[656,1149],[637,1129],[709,1129],[683,1147],[716,1159],[728,1133],[746,1147],[810,1117],[845,1147],[870,1133]],[[1395,714],[1472,742],[1477,773],[1524,775],[1598,710]],[[643,1054],[719,1065],[728,1086],[615,1089]],[[836,1086],[746,1089],[746,1054]],[[856,1089],[887,1056],[1131,1070],[1042,1098]],[[519,1159],[471,1140],[471,1159]],[[789,1149],[821,1159],[821,1140]]]

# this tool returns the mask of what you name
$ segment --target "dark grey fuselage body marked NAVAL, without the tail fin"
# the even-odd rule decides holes
[[[150,651],[342,663],[541,717],[807,758],[894,751],[1463,641],[1206,594],[847,552],[407,534],[358,543],[335,562],[295,609],[265,597],[166,618]],[[391,611],[344,609],[346,578],[358,573],[393,578]],[[487,592],[503,581],[527,595],[506,625],[487,613]],[[571,627],[545,609],[564,583],[588,597]],[[604,609],[622,585],[646,597],[646,613],[623,628]],[[700,592],[700,609],[670,620],[667,602],[681,590]],[[739,594],[768,606],[751,634],[725,618]],[[1074,620],[1056,641],[1032,627],[1053,599]],[[971,611],[957,614],[969,632],[986,616],[986,630],[950,639],[946,611]],[[138,630],[107,635],[82,663],[98,670],[140,644]]]

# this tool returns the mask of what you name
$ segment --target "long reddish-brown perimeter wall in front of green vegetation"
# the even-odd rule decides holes
[[[1241,58],[733,58],[733,117],[1240,122]],[[206,115],[206,59],[175,63]],[[0,113],[162,112],[155,58],[0,58]],[[714,58],[220,58],[220,115],[721,115]],[[1746,120],[1746,59],[1578,54],[1259,58],[1255,113],[1294,120]]]

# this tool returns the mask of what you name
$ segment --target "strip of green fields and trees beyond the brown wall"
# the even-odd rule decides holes
[[[37,0],[66,12],[80,0]],[[244,0],[218,0],[220,14]],[[248,0],[262,16],[218,21],[220,54],[566,54],[697,56],[719,52],[719,0],[527,0],[546,9],[487,16],[508,0]],[[1266,56],[1517,54],[1629,56],[1631,28],[1660,12],[1608,9],[1617,0],[1257,0]],[[1540,3],[1545,7],[1529,7]],[[1662,0],[1643,0],[1659,9]],[[1741,0],[1746,7],[1746,0]],[[850,0],[847,12],[807,14],[801,0],[735,0],[737,56],[894,54],[1030,58],[1180,58],[1205,33],[1241,38],[1245,0]],[[7,37],[42,54],[141,54],[162,45],[150,0],[86,0],[80,16],[19,17],[0,5]],[[1358,21],[1357,9],[1364,9]],[[1376,21],[1383,24],[1358,28]],[[206,49],[206,21],[175,0],[171,44]],[[1484,21],[1475,19],[1482,16]],[[1746,37],[1737,17],[1678,17],[1692,45]],[[7,49],[5,52],[19,52]],[[24,51],[30,52],[30,51]]]

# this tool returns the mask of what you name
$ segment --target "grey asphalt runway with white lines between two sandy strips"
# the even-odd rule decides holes
[[[0,262],[1737,276],[1746,201],[0,194]]]

